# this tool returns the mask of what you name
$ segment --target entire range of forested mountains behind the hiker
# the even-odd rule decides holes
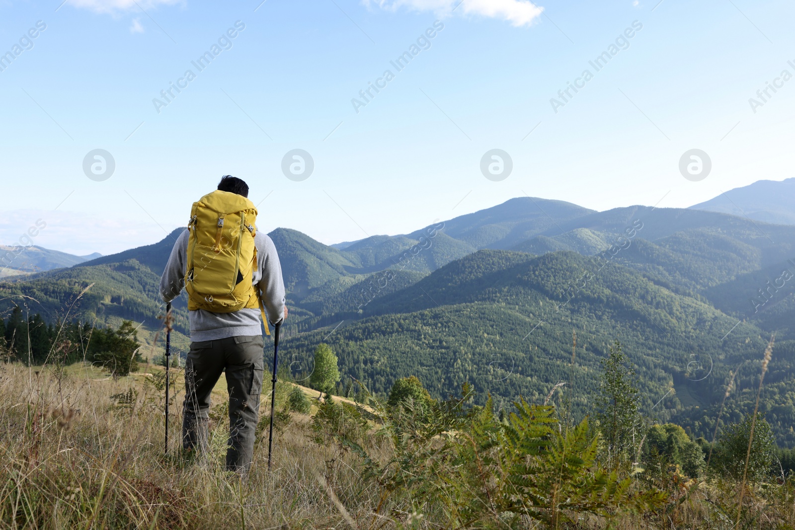
[[[25,304],[50,321],[67,310],[99,324],[134,319],[153,333],[159,276],[180,230],[4,280],[0,304]],[[735,393],[724,417],[753,406],[776,333],[762,410],[778,442],[795,446],[795,226],[695,207],[599,212],[522,197],[336,246],[287,228],[270,237],[290,308],[280,352],[297,379],[327,342],[343,377],[377,393],[417,375],[436,397],[469,381],[480,400],[491,393],[505,406],[519,396],[542,401],[564,382],[584,413],[599,360],[620,340],[646,411],[711,435],[730,371]],[[174,307],[174,343],[184,351],[184,296]]]

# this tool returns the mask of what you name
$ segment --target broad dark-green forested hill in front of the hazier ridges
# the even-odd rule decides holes
[[[584,288],[560,295],[589,270],[594,274]],[[741,367],[742,395],[730,414],[753,400],[769,338],[754,324],[737,324],[707,302],[670,292],[626,266],[611,262],[595,271],[587,257],[568,252],[531,257],[481,250],[384,294],[364,313],[363,319],[340,314],[349,319],[333,332],[327,327],[285,340],[294,366],[307,368],[314,345],[324,340],[344,372],[376,392],[414,374],[436,396],[470,381],[479,396],[491,393],[504,403],[519,395],[543,400],[557,382],[573,381],[575,408],[584,412],[599,358],[619,339],[637,366],[646,410],[697,435],[714,426],[709,418],[730,369]],[[775,386],[783,400],[768,402],[769,419],[780,442],[793,444],[793,341],[778,342],[776,349],[768,391]]]

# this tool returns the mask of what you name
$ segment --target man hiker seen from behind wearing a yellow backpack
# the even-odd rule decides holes
[[[191,350],[185,360],[182,446],[207,446],[210,395],[226,371],[229,442],[226,469],[245,474],[254,459],[262,391],[262,323],[287,318],[285,285],[273,241],[256,228],[248,185],[224,176],[218,189],[193,203],[188,229],[177,238],[161,278],[170,302],[188,292]]]

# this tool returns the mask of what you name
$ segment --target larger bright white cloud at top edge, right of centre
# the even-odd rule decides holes
[[[366,6],[375,4],[388,10],[405,6],[417,11],[433,11],[440,15],[456,13],[502,18],[512,25],[529,25],[541,16],[543,7],[529,0],[363,0]],[[458,7],[456,7],[458,6]]]

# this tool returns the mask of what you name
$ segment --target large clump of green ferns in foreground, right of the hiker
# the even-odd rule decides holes
[[[599,437],[589,434],[588,420],[560,428],[555,408],[522,400],[503,424],[491,398],[483,407],[468,407],[471,395],[471,386],[463,385],[463,397],[432,401],[422,423],[395,423],[389,406],[370,397],[382,424],[378,432],[392,446],[386,459],[350,435],[361,431],[339,426],[342,407],[324,404],[328,412],[318,412],[315,427],[362,458],[363,480],[381,490],[379,509],[427,506],[443,512],[436,515],[450,522],[448,528],[525,528],[528,517],[563,528],[559,524],[578,520],[578,513],[609,522],[665,502],[659,489],[634,489],[632,478],[597,464]]]

